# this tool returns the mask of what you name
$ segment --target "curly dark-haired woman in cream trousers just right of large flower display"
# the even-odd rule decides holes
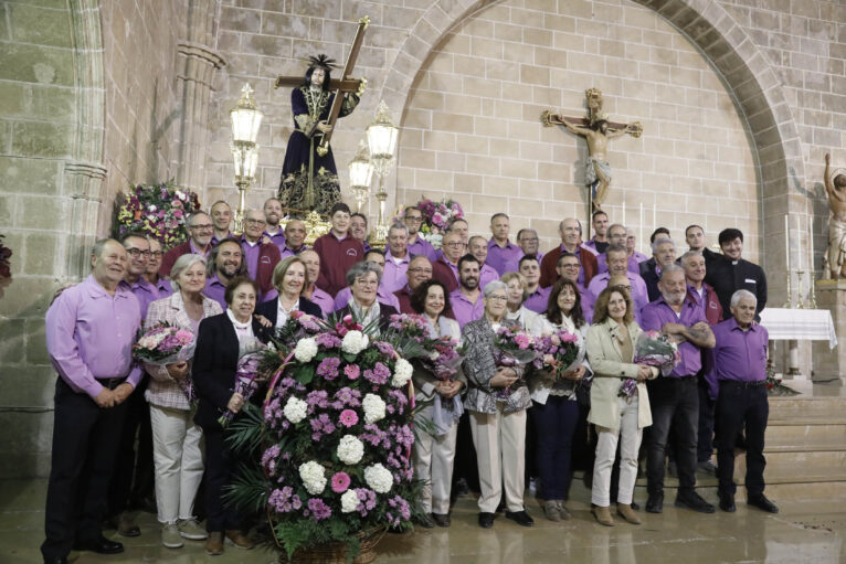
[[[452,343],[447,344],[452,350],[461,345],[462,331],[458,322],[445,316],[451,309],[450,294],[443,283],[427,280],[417,286],[411,296],[411,307],[426,320],[430,338],[445,339],[447,343]],[[426,482],[421,496],[426,517],[420,524],[425,528],[435,523],[438,526],[450,526],[455,440],[458,436],[458,418],[464,413],[458,394],[467,380],[457,365],[454,371],[450,370],[450,366],[443,366],[444,371],[441,373],[435,373],[429,370],[430,368],[432,366],[415,363],[412,375],[416,391],[415,401],[432,403],[422,409],[421,416],[433,422],[435,432],[435,436],[426,432],[417,433],[414,443],[414,476]]]

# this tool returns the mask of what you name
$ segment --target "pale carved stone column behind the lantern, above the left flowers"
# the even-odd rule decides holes
[[[214,72],[225,61],[209,45],[214,41],[216,0],[192,0],[188,6],[188,40],[177,45],[181,58],[178,75],[182,106],[177,183],[200,194],[205,189],[205,153],[209,147],[209,103]]]

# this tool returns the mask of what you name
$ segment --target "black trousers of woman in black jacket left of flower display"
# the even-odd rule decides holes
[[[232,483],[235,460],[223,438],[223,429],[203,428],[205,439],[205,530],[210,533],[241,529],[241,517],[224,500]]]

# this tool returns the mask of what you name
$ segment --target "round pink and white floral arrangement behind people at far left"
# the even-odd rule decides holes
[[[200,210],[197,193],[178,188],[172,180],[162,184],[138,184],[117,211],[117,235],[128,231],[149,234],[167,248],[188,238],[186,220]]]

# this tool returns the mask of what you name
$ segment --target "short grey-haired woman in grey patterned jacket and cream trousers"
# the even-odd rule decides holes
[[[506,517],[520,525],[535,521],[524,508],[526,409],[529,390],[519,385],[524,366],[500,361],[497,365],[497,330],[517,328],[506,319],[508,288],[494,280],[485,286],[485,315],[464,326],[466,357],[464,373],[469,382],[465,407],[470,412],[470,432],[479,470],[479,526],[494,526],[494,514],[505,483]],[[512,386],[512,384],[518,384]]]

